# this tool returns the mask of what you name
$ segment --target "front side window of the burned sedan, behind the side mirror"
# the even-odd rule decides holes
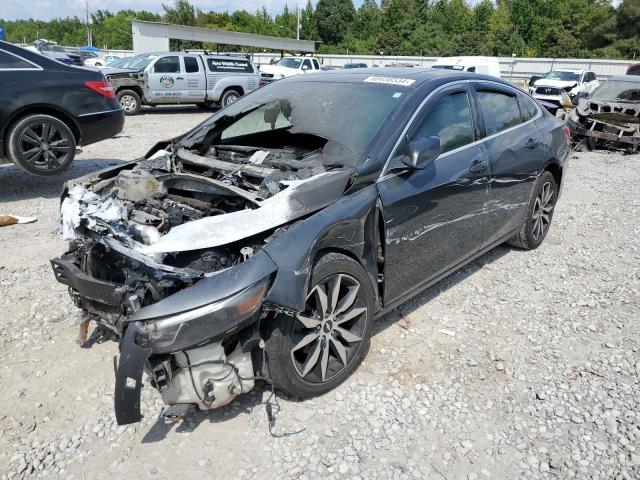
[[[471,109],[465,92],[438,100],[414,134],[414,138],[426,137],[438,137],[443,153],[474,141]]]

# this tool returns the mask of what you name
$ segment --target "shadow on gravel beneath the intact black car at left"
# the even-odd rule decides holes
[[[101,158],[75,160],[60,175],[51,177],[32,175],[13,164],[1,165],[0,203],[32,198],[56,198],[60,196],[62,186],[67,180],[123,162],[123,160],[105,160]]]

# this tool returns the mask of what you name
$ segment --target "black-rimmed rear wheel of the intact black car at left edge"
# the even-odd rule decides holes
[[[35,175],[57,175],[76,156],[76,139],[62,120],[50,115],[27,115],[9,129],[9,157]]]

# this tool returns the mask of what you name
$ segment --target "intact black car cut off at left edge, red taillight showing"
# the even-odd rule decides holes
[[[104,75],[0,42],[0,163],[55,175],[76,147],[118,134],[124,113]]]

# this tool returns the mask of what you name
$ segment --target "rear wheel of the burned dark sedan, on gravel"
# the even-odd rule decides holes
[[[551,227],[557,198],[558,186],[556,181],[551,172],[544,171],[534,185],[533,194],[529,200],[524,224],[520,232],[509,239],[507,243],[523,250],[538,248]]]

